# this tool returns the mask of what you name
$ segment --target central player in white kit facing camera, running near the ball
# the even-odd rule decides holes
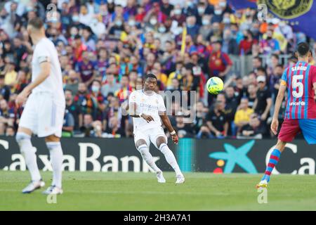
[[[155,75],[145,75],[144,88],[133,91],[129,96],[129,115],[133,117],[135,145],[147,165],[156,172],[159,183],[165,183],[166,180],[162,170],[157,167],[150,154],[150,142],[164,154],[166,161],[176,172],[176,184],[183,184],[185,177],[180,171],[172,151],[167,146],[167,138],[164,129],[162,129],[162,122],[176,144],[178,144],[178,136],[166,115],[166,107],[162,96],[154,92],[156,85],[157,77]]]

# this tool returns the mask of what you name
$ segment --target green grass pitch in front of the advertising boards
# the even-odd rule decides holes
[[[41,174],[46,188],[51,172]],[[64,172],[64,194],[48,204],[44,188],[21,193],[28,172],[0,171],[0,210],[316,210],[315,176],[272,176],[268,204],[257,202],[261,174],[187,173],[183,185],[164,176],[166,184],[154,174]]]

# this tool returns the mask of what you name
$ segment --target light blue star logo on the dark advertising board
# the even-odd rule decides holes
[[[247,153],[254,146],[255,141],[248,141],[244,145],[236,148],[229,143],[224,144],[225,152],[216,152],[209,154],[209,158],[216,160],[224,160],[225,168],[224,173],[231,173],[236,165],[239,165],[244,171],[249,174],[257,174],[257,169],[254,163],[248,158]],[[221,164],[223,165],[223,164]]]

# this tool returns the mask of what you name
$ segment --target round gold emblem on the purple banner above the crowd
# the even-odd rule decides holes
[[[310,11],[314,0],[259,0],[268,9],[282,19],[293,19]]]

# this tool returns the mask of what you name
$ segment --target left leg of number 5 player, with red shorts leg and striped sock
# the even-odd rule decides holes
[[[265,168],[265,174],[263,175],[260,183],[256,186],[257,188],[268,186],[272,170],[277,165],[277,162],[279,162],[279,158],[285,148],[285,145],[287,142],[293,141],[296,134],[298,134],[300,131],[301,129],[298,125],[298,120],[284,120],[279,131],[277,145],[270,155],[268,165]]]

